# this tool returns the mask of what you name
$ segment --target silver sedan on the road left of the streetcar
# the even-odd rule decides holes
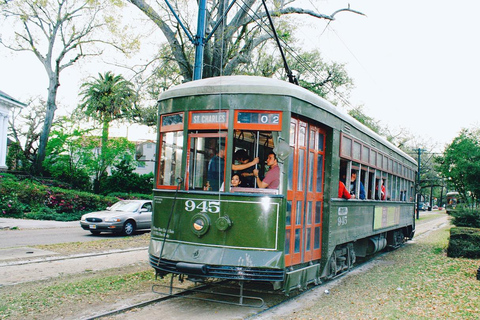
[[[151,228],[152,201],[121,200],[105,211],[84,214],[80,225],[92,234],[113,232],[129,236],[136,230]]]

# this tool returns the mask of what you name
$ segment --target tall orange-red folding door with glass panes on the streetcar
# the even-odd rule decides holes
[[[285,263],[320,259],[325,130],[299,119],[290,125]]]

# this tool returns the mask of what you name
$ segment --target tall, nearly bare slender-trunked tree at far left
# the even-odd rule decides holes
[[[22,0],[2,1],[0,7],[6,18],[13,19],[14,39],[6,40],[2,29],[0,43],[14,51],[32,52],[48,75],[48,95],[45,121],[40,134],[35,159],[37,172],[42,171],[45,150],[57,109],[60,74],[86,56],[99,55],[97,44],[125,48],[125,41],[106,40],[102,33],[114,31],[116,23],[113,0]],[[109,8],[109,10],[106,10]],[[112,33],[109,32],[111,35]],[[123,38],[126,39],[126,38]]]

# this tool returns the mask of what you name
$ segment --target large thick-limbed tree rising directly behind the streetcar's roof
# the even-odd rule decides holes
[[[196,41],[192,37],[195,32],[192,31],[191,26],[195,26],[196,23],[188,17],[188,13],[191,11],[188,9],[188,4],[194,3],[196,5],[197,2],[177,1],[174,3],[173,9],[183,20],[182,26],[165,4],[161,5],[160,2],[157,2],[158,6],[153,8],[147,3],[147,0],[128,1],[140,9],[160,28],[167,39],[184,81],[191,81],[194,57],[194,48],[191,40]],[[334,16],[341,11],[359,13],[348,8],[337,10],[332,15],[324,15],[288,6],[293,2],[274,2],[271,16],[275,18],[288,14],[304,14],[319,19],[334,20]],[[213,31],[214,33],[209,34],[211,39],[204,44],[203,77],[231,75],[235,74],[242,67],[251,65],[255,55],[261,55],[261,53],[258,53],[258,50],[273,38],[273,32],[268,27],[265,27],[265,23],[262,21],[265,18],[266,12],[259,1],[246,0],[241,4],[236,3],[232,8],[228,8],[224,0],[209,1],[206,12],[207,33]],[[213,30],[217,25],[218,28]],[[283,29],[287,32],[279,33],[289,35],[288,28]],[[282,68],[283,64],[273,64],[271,67],[273,68],[273,74],[279,68]]]

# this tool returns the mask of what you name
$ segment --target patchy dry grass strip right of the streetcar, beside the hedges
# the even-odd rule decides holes
[[[448,237],[440,229],[391,252],[284,319],[478,319],[480,261],[448,258]]]

